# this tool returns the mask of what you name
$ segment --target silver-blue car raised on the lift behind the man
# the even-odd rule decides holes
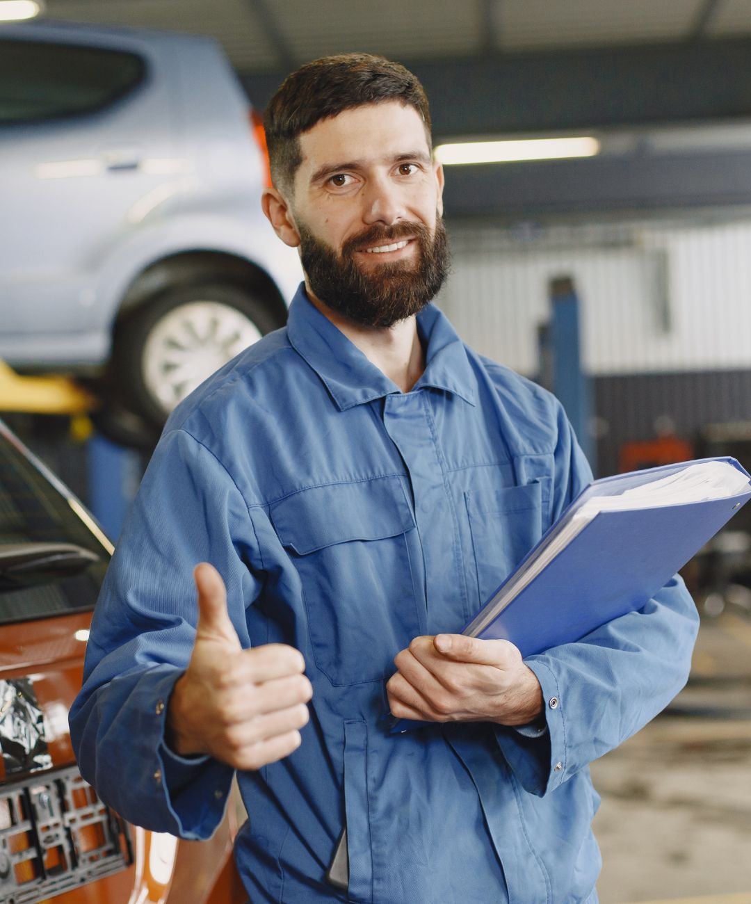
[[[260,209],[268,178],[211,39],[0,25],[0,359],[93,377],[161,426],[286,321],[301,270]]]

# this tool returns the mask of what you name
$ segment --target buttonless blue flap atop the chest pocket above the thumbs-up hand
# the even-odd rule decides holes
[[[300,555],[351,540],[383,540],[415,526],[399,476],[312,486],[271,506],[284,546]]]

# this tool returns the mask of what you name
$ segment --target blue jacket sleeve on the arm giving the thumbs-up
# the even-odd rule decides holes
[[[246,607],[261,587],[249,509],[221,463],[182,430],[156,448],[91,624],[83,687],[70,710],[81,775],[128,822],[183,838],[221,823],[233,770],[164,744],[169,696],[192,653],[192,570],[210,561],[249,647]]]

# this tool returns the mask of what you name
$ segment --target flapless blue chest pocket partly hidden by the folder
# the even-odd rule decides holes
[[[549,477],[523,486],[465,493],[478,608],[498,589],[549,526]]]

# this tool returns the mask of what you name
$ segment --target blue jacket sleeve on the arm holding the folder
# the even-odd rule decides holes
[[[554,520],[591,480],[573,429],[557,405]],[[525,737],[495,730],[521,786],[543,795],[629,738],[688,680],[699,615],[680,577],[638,612],[575,644],[529,656],[542,688],[547,732]]]

